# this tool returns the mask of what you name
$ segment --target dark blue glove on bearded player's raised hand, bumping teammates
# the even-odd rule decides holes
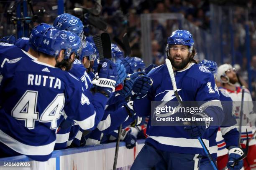
[[[135,80],[132,88],[133,98],[141,99],[145,97],[152,84],[153,84],[153,80],[151,80],[150,77],[146,77],[146,76],[138,77]]]

